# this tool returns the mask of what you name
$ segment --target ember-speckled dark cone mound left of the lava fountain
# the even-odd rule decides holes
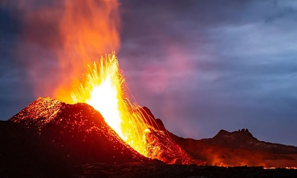
[[[33,132],[71,164],[148,161],[85,103],[38,98],[9,119]]]

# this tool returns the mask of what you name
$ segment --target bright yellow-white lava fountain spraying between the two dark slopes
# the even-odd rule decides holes
[[[119,70],[115,53],[101,57],[88,71],[80,87],[73,89],[73,102],[84,102],[98,110],[105,122],[132,148],[147,156],[148,125],[137,104],[131,104],[125,93],[125,79]]]

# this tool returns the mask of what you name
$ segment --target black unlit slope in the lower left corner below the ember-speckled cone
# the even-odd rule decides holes
[[[0,178],[66,178],[72,169],[29,130],[0,121]]]

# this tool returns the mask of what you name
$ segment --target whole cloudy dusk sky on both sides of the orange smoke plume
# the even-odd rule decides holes
[[[247,128],[297,146],[296,0],[120,3],[119,65],[138,104],[170,132],[200,139]],[[50,96],[34,92],[36,78],[45,91],[58,82],[49,77],[61,47],[55,18],[24,23],[47,6],[63,8],[58,0],[0,1],[1,120]]]

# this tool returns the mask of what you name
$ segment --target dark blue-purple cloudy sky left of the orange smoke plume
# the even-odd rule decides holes
[[[25,24],[33,6],[40,3],[28,1],[26,8],[19,6],[17,1],[0,4],[0,108],[1,119],[6,120],[24,108],[34,99],[34,76],[44,80],[44,74],[51,71],[45,59],[53,56],[52,41],[58,40],[52,32],[51,24],[39,16],[32,24]],[[30,7],[30,9],[28,9]],[[36,7],[35,9],[39,9]],[[25,33],[28,34],[24,36]],[[30,32],[30,33],[29,33]],[[43,35],[42,35],[43,34]],[[50,38],[48,38],[50,36]],[[47,50],[46,50],[47,49]],[[33,56],[35,55],[35,56]],[[36,57],[38,56],[38,57]],[[41,62],[42,61],[42,62]],[[38,74],[33,66],[38,65]],[[50,81],[49,81],[50,82]]]

